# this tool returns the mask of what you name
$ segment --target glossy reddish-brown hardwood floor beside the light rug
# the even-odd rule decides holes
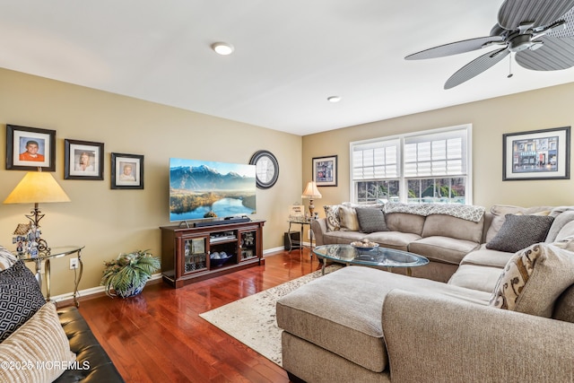
[[[274,362],[199,314],[319,268],[309,249],[284,251],[177,290],[161,282],[126,300],[86,297],[80,311],[126,382],[288,382]]]

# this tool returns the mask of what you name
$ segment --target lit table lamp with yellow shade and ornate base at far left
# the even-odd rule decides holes
[[[4,204],[34,204],[34,209],[30,214],[26,214],[26,218],[30,220],[30,229],[35,231],[39,230],[39,220],[45,215],[39,211],[40,202],[70,202],[70,197],[65,194],[52,174],[39,170],[26,173],[4,200]],[[38,234],[34,240],[38,244],[39,252],[49,254],[50,248],[45,239],[39,238]]]

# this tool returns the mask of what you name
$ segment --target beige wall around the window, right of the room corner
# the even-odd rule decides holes
[[[574,205],[574,179],[502,181],[502,134],[571,126],[573,98],[574,83],[570,83],[306,135],[303,137],[302,181],[311,178],[313,157],[338,155],[338,187],[320,187],[323,198],[315,201],[318,212],[324,216],[323,205],[350,198],[350,142],[470,123],[473,125],[474,205]]]

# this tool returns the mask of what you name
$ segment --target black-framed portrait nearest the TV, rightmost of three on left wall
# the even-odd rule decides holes
[[[143,189],[143,155],[111,153],[111,188]]]

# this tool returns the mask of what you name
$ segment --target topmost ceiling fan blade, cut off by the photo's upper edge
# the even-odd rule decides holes
[[[516,30],[522,22],[534,26],[550,24],[574,7],[574,0],[506,0],[499,10],[499,24],[506,30]]]

